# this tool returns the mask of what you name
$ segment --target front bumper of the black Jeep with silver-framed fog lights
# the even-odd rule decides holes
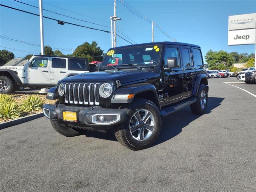
[[[76,122],[63,121],[63,111],[72,111],[77,114]],[[126,119],[126,111],[124,109],[101,108],[100,106],[77,107],[66,106],[64,104],[44,104],[44,116],[48,119],[59,121],[62,123],[80,124],[82,126],[99,127],[109,126],[123,123]],[[104,121],[98,122],[97,116],[103,116]]]

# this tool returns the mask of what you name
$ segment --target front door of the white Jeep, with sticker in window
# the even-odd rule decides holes
[[[29,84],[49,84],[50,66],[47,57],[35,57],[27,70]]]

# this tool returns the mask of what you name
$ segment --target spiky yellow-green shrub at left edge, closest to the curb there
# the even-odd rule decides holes
[[[0,117],[4,120],[16,119],[22,115],[19,105],[15,102],[2,102],[0,103]]]

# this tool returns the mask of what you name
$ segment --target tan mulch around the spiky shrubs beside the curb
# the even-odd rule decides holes
[[[18,104],[21,104],[21,102],[26,99],[29,95],[37,95],[39,97],[42,98],[42,100],[44,101],[44,103],[48,103],[48,104],[54,104],[56,102],[56,100],[47,100],[46,99],[46,95],[47,93],[35,93],[35,92],[14,92],[14,93],[11,93],[10,95],[13,96],[15,102],[17,102]],[[34,114],[37,114],[37,113],[42,113],[42,109],[41,110],[38,110],[38,111],[32,111],[32,112],[29,112],[29,113],[23,113],[22,114],[22,117],[23,116],[29,116],[29,115],[34,115]],[[0,118],[0,123],[3,123],[3,122],[6,122],[6,121],[9,121],[11,119],[2,119]]]

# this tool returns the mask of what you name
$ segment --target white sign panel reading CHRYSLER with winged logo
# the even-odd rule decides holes
[[[256,13],[231,15],[228,17],[228,30],[256,28]]]

